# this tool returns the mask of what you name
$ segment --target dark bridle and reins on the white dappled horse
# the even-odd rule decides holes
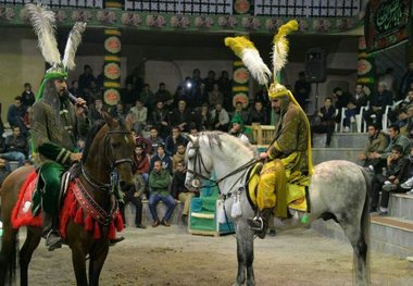
[[[252,159],[249,162],[247,162],[246,164],[239,166],[238,169],[236,169],[236,170],[229,172],[228,174],[226,174],[225,176],[221,177],[220,179],[213,179],[213,178],[206,177],[206,176],[202,175],[201,173],[197,172],[197,164],[198,164],[199,172],[202,172],[201,167],[203,167],[203,170],[205,171],[205,173],[208,175],[211,175],[211,172],[206,170],[205,164],[203,162],[201,152],[199,150],[200,146],[199,146],[198,140],[192,141],[192,146],[189,147],[189,150],[191,150],[191,149],[195,150],[193,170],[189,170],[188,169],[187,172],[193,175],[193,179],[191,182],[192,187],[195,187],[195,188],[202,188],[202,187],[204,187],[204,186],[201,186],[199,179],[197,179],[197,178],[202,178],[204,181],[211,182],[213,184],[212,187],[216,186],[218,188],[220,195],[222,195],[222,191],[221,191],[221,188],[220,188],[220,183],[221,182],[223,182],[224,179],[226,179],[226,178],[228,178],[228,177],[230,177],[230,176],[233,176],[233,175],[235,175],[235,174],[237,174],[237,173],[239,173],[239,172],[241,172],[241,171],[243,171],[243,170],[252,166],[253,164],[255,164],[259,161],[259,160]],[[240,177],[239,179],[241,179],[241,178],[242,177]],[[239,179],[237,179],[237,182],[235,182],[234,185],[237,184]]]

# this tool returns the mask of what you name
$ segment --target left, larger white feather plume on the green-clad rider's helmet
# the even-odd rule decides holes
[[[41,4],[26,4],[32,25],[39,40],[39,48],[45,61],[50,65],[61,62],[58,41],[54,36],[55,18],[52,11],[46,10]]]

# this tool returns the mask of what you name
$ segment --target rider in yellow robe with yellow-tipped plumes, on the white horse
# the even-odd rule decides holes
[[[274,37],[274,75],[286,63],[288,40],[286,36],[298,29],[297,21],[283,25]],[[260,84],[267,87],[270,69],[263,63],[253,43],[243,37],[226,38],[225,43],[240,57]],[[256,194],[258,212],[248,219],[251,229],[264,238],[270,217],[288,217],[287,192],[291,179],[305,178],[312,174],[311,132],[306,114],[296,101],[291,91],[277,83],[267,87],[272,109],[280,115],[275,128],[275,138],[265,152],[260,153],[264,164],[260,171]]]

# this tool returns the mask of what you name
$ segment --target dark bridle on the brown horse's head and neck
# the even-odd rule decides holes
[[[130,135],[132,133],[130,132],[124,132],[124,130],[109,130],[109,132],[107,132],[107,134],[104,136],[103,154],[108,156],[109,163],[111,165],[111,183],[110,184],[101,183],[101,182],[95,179],[92,176],[90,176],[86,172],[84,164],[82,163],[82,165],[80,165],[82,174],[84,175],[85,179],[95,188],[99,188],[99,189],[103,189],[103,190],[109,189],[109,190],[113,191],[117,185],[117,182],[118,182],[118,174],[116,171],[116,166],[120,164],[123,164],[123,163],[129,163],[130,165],[134,164],[132,159],[126,159],[126,158],[118,159],[118,160],[113,159],[113,150],[112,150],[112,147],[110,146],[110,135],[114,135],[114,134]]]

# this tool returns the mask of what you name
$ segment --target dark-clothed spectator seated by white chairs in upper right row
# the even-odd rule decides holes
[[[374,91],[371,96],[368,110],[363,113],[364,120],[367,122],[367,124],[372,123],[375,120],[381,129],[383,114],[386,111],[386,107],[391,105],[392,103],[393,99],[391,92],[386,90],[385,84],[379,83],[377,90]]]

